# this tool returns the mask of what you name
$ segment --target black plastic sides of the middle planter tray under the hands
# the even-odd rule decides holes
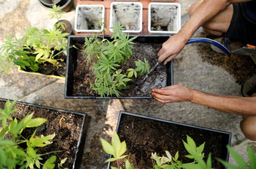
[[[134,37],[135,35],[130,35]],[[68,46],[75,45],[75,43],[84,43],[84,37],[90,36],[69,36]],[[111,36],[105,36],[105,38],[110,38]],[[135,39],[135,42],[145,42],[145,43],[164,43],[169,36],[159,36],[159,35],[142,35]],[[70,48],[67,53],[67,67],[66,67],[66,84],[65,84],[65,95],[66,99],[152,99],[152,96],[121,96],[121,97],[103,97],[100,96],[74,96],[73,95],[73,84],[74,84],[74,70],[76,68],[77,60],[77,49]],[[173,61],[166,64],[167,81],[166,85],[171,86],[174,84],[173,79]]]

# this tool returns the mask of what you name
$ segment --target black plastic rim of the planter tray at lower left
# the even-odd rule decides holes
[[[0,101],[7,101],[7,99],[0,98]],[[13,100],[10,100],[10,101],[13,101]],[[80,127],[81,130],[80,130],[80,133],[79,133],[79,138],[78,138],[78,142],[77,142],[77,146],[76,146],[74,162],[72,164],[72,168],[79,168],[80,163],[81,163],[81,159],[82,159],[82,155],[83,155],[84,143],[86,142],[86,135],[87,135],[87,130],[88,130],[90,117],[86,114],[81,113],[81,112],[65,110],[65,109],[60,109],[60,108],[53,108],[53,107],[42,106],[42,105],[37,105],[37,104],[31,104],[31,103],[26,103],[26,102],[21,102],[21,101],[16,101],[15,104],[23,104],[23,105],[42,108],[42,109],[55,110],[55,111],[63,112],[65,114],[74,114],[74,115],[81,116],[82,117],[82,125]]]

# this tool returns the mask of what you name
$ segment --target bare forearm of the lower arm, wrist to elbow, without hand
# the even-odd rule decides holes
[[[256,97],[216,96],[191,90],[191,102],[230,114],[256,115]]]

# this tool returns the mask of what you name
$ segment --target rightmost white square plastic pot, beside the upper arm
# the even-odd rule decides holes
[[[148,32],[151,34],[176,34],[180,28],[180,4],[150,3],[148,5]]]

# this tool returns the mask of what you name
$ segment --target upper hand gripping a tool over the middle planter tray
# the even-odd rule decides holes
[[[166,42],[163,43],[162,48],[158,52],[158,62],[165,65],[170,60],[174,59],[177,54],[186,45],[187,39],[182,34],[176,34],[170,37]]]

